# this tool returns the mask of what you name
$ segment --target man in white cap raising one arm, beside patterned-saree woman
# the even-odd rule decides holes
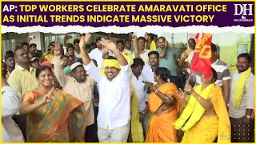
[[[86,142],[97,142],[96,130],[94,125],[94,108],[93,108],[93,90],[94,79],[86,76],[86,70],[80,62],[74,62],[70,66],[72,77],[64,74],[61,60],[61,49],[58,43],[54,47],[54,74],[60,82],[63,90],[72,94],[82,102],[85,102],[86,110]]]

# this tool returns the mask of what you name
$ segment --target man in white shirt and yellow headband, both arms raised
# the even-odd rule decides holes
[[[127,142],[130,130],[130,66],[114,42],[102,38],[102,45],[116,57],[104,61],[106,76],[103,76],[86,52],[89,38],[90,34],[82,36],[79,46],[86,72],[99,86],[98,140]]]

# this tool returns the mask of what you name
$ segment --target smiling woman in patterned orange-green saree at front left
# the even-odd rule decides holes
[[[36,77],[39,86],[24,95],[20,110],[27,114],[27,142],[85,142],[83,102],[54,90],[50,67],[39,67]]]

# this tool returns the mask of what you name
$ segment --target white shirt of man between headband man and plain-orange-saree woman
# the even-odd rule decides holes
[[[136,95],[138,98],[139,112],[142,112],[146,108],[145,102],[148,102],[148,100],[147,100],[148,94],[146,94],[146,91],[144,90],[145,83],[142,81],[144,81],[142,79],[142,76],[138,77],[138,79],[137,79],[136,76],[134,74],[132,74],[131,83],[134,86],[134,89],[136,91]]]

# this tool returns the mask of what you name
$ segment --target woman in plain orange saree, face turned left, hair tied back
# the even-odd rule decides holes
[[[158,67],[154,71],[156,86],[146,82],[152,91],[149,96],[149,110],[154,114],[148,123],[146,142],[177,142],[177,130],[173,122],[178,118],[179,100],[177,87],[174,83],[167,82],[170,71]]]

